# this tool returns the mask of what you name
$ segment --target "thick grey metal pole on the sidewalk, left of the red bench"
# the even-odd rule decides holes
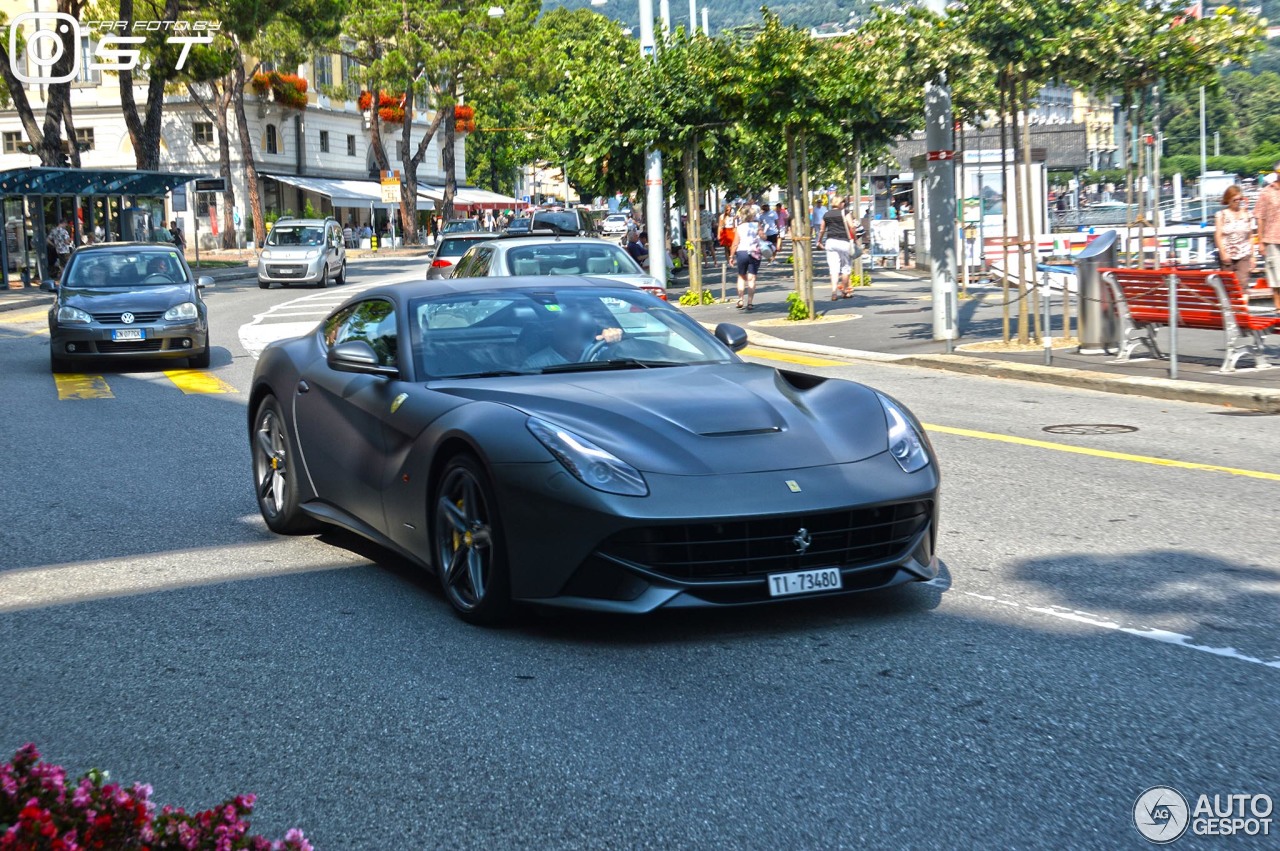
[[[925,8],[946,17],[946,0],[928,0]],[[956,338],[956,177],[955,128],[951,88],[946,72],[924,86],[924,147],[928,150],[925,184],[929,198],[929,278],[933,292],[933,339]]]

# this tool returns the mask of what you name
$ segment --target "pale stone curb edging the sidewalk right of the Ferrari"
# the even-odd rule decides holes
[[[716,328],[714,324],[710,322],[703,322],[703,326],[708,328],[708,330],[714,330]],[[1280,390],[1258,390],[1252,388],[1220,386],[1217,384],[1204,384],[1202,381],[1175,381],[1172,379],[1138,378],[1130,375],[1115,375],[1112,372],[1094,372],[1092,370],[1039,366],[1036,363],[1010,363],[1007,361],[993,361],[989,358],[969,357],[964,354],[887,354],[884,352],[865,352],[860,349],[840,348],[838,346],[794,343],[791,340],[780,339],[768,334],[760,334],[750,329],[748,329],[748,335],[753,346],[776,348],[787,352],[826,354],[828,357],[842,357],[854,361],[874,361],[878,363],[916,366],[932,370],[945,370],[948,372],[963,372],[965,375],[1011,379],[1015,381],[1034,381],[1038,384],[1053,384],[1057,386],[1084,388],[1089,390],[1100,390],[1102,393],[1140,395],[1149,399],[1197,402],[1199,404],[1243,408],[1245,411],[1258,411],[1261,413],[1280,413]]]

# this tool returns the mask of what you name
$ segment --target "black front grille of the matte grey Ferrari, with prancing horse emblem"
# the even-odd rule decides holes
[[[599,552],[676,580],[859,567],[901,557],[932,514],[932,502],[916,500],[814,514],[644,526],[611,536]],[[797,541],[805,535],[810,543],[801,554]]]

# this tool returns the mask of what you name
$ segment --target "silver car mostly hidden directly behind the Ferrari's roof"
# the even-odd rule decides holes
[[[588,275],[639,287],[667,298],[667,290],[621,246],[591,237],[490,239],[467,248],[451,278]]]

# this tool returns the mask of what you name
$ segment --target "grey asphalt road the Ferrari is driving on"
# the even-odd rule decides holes
[[[215,289],[220,384],[90,398],[59,398],[42,312],[0,314],[0,752],[252,791],[319,848],[1115,848],[1152,786],[1280,799],[1274,417],[777,362],[933,426],[942,581],[481,630],[358,539],[271,535],[250,481],[253,353],[421,269]]]

